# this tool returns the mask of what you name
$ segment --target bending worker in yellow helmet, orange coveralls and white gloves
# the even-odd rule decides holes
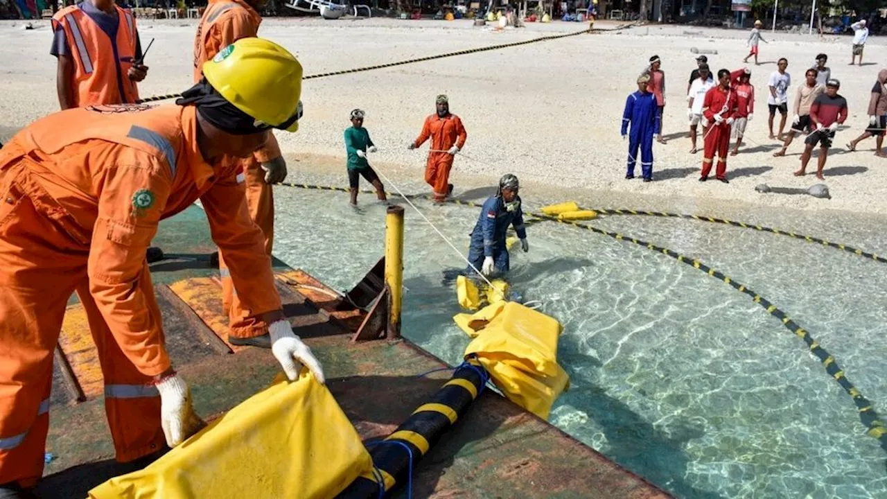
[[[262,147],[272,127],[298,129],[302,66],[277,44],[245,38],[203,69],[206,79],[176,105],[69,109],[0,149],[0,497],[29,496],[43,474],[52,355],[75,289],[98,347],[117,459],[155,455],[200,429],[145,263],[160,220],[197,199],[287,377],[304,365],[324,380],[281,310],[232,161]]]

